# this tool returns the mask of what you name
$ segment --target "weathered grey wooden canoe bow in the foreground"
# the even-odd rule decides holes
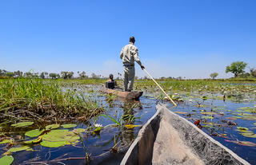
[[[166,105],[158,104],[156,108],[126,152],[122,165],[250,164]]]

